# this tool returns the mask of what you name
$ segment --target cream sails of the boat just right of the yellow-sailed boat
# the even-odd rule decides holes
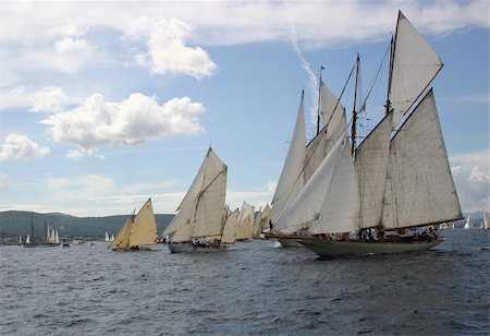
[[[228,167],[209,148],[193,183],[184,196],[179,213],[166,228],[174,242],[193,237],[221,236],[224,225],[224,199]]]

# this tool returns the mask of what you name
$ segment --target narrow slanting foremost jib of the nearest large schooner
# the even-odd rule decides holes
[[[279,218],[278,225],[283,228],[283,232],[291,233],[308,228],[318,219],[344,146],[348,146],[346,140],[339,139],[302,192]]]

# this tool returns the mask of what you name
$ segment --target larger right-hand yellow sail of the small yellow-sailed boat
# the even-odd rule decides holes
[[[130,247],[154,244],[158,238],[151,199],[146,201],[130,228]]]

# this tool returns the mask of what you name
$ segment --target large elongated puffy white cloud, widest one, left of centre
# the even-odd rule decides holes
[[[99,144],[135,144],[160,135],[199,133],[203,129],[198,115],[204,110],[200,103],[188,97],[173,98],[160,106],[155,97],[139,93],[120,103],[93,94],[77,108],[41,122],[51,127],[54,141],[90,149]]]

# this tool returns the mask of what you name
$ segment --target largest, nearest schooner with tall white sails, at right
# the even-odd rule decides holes
[[[319,255],[430,249],[442,241],[433,225],[462,218],[433,93],[426,92],[443,64],[402,12],[390,50],[384,117],[357,145],[356,122],[366,101],[356,110],[354,95],[351,130],[344,109],[335,104],[296,168],[290,185],[298,191],[293,194],[290,188],[286,205],[277,212],[277,203],[272,207],[274,227],[290,233],[283,238]],[[356,88],[358,69],[359,58]],[[318,156],[314,146],[323,146]],[[313,158],[319,164],[308,169]]]

